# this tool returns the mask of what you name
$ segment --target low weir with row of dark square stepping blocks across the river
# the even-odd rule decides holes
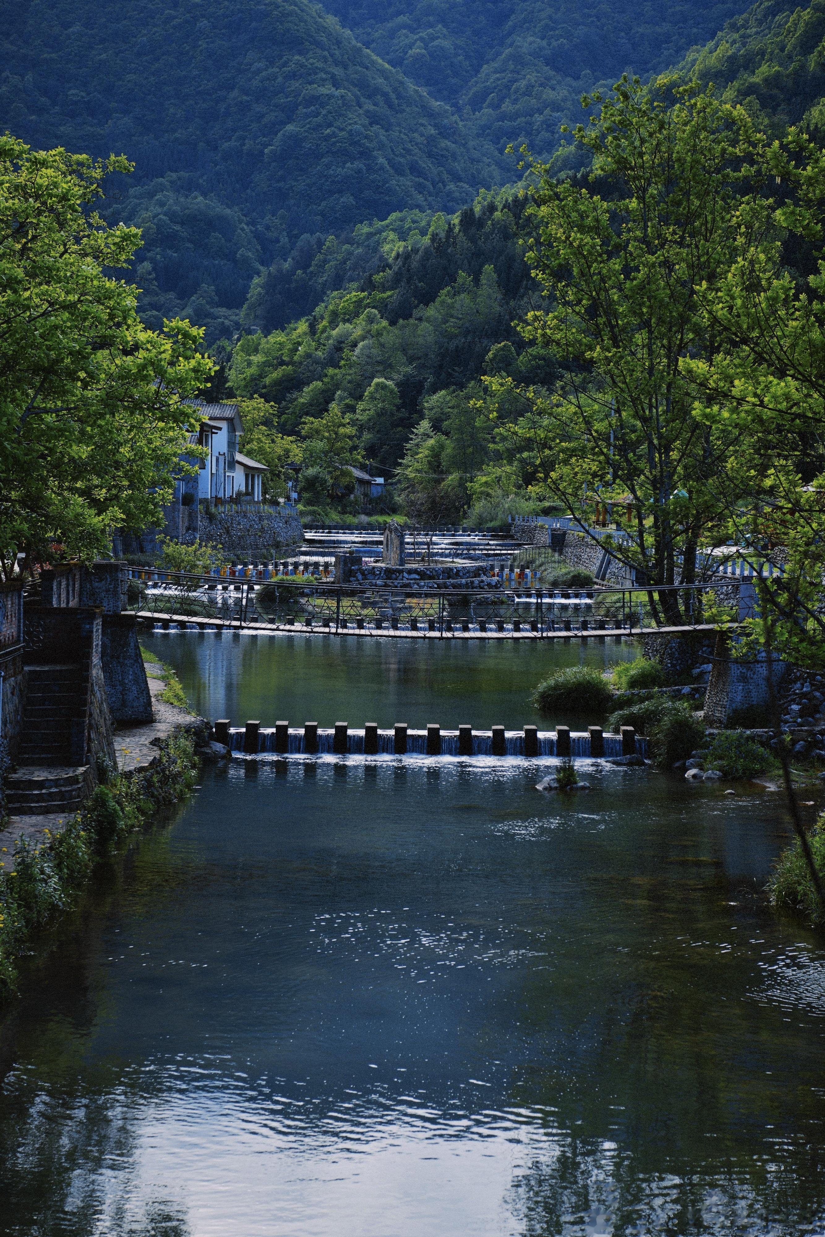
[[[414,730],[397,721],[392,729],[382,730],[375,721],[361,727],[350,727],[345,721],[336,721],[329,727],[320,727],[317,721],[303,726],[291,726],[288,721],[277,721],[275,726],[261,726],[260,721],[233,726],[224,717],[214,724],[214,732],[219,743],[244,756],[555,756],[616,760],[620,756],[647,755],[647,740],[637,735],[632,726],[622,726],[618,735],[606,735],[601,726],[589,726],[586,731],[570,731],[568,726],[557,726],[555,730],[539,730],[537,726],[474,730],[459,726],[450,730],[430,722],[423,730]]]

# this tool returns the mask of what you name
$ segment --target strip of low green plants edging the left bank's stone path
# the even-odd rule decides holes
[[[152,768],[95,787],[82,811],[54,816],[41,845],[20,839],[14,855],[2,852],[0,1004],[15,992],[16,959],[78,904],[96,863],[192,790],[197,768],[193,738],[178,731],[161,745]]]

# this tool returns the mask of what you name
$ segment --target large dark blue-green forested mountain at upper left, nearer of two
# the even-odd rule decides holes
[[[145,228],[141,306],[230,333],[298,238],[455,210],[500,177],[432,101],[307,0],[4,0],[0,125],[125,153],[109,218]]]

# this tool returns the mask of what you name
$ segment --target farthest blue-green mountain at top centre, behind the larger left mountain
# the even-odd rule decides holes
[[[680,61],[741,12],[743,0],[323,0],[355,37],[435,99],[476,141],[527,141],[541,157],[579,98],[630,69]]]

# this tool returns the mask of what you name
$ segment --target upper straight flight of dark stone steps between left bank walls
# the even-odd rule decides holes
[[[77,756],[72,760],[72,735],[80,730],[85,736],[85,713],[87,682],[82,666],[27,666],[17,766],[77,767]]]

